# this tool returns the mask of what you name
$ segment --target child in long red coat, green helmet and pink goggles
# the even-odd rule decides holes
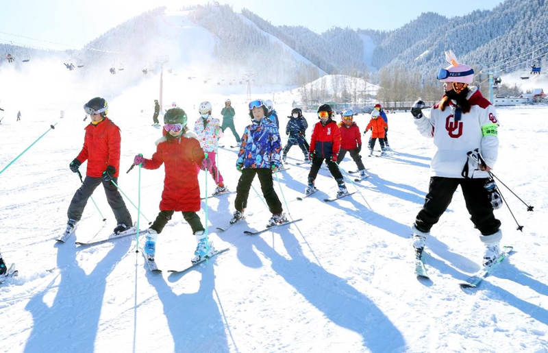
[[[182,211],[185,221],[192,228],[192,233],[198,242],[192,263],[214,252],[213,245],[208,241],[200,218],[196,214],[200,209],[198,167],[209,169],[210,160],[204,158],[197,136],[188,131],[186,121],[184,110],[169,109],[164,114],[166,134],[156,141],[156,151],[152,158],[143,158],[140,154],[134,158],[134,165],[141,164],[145,169],[158,169],[163,163],[166,171],[160,213],[147,230],[145,254],[149,260],[154,260],[158,234],[162,232],[175,211]]]

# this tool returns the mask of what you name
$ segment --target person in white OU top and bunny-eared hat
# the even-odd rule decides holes
[[[421,258],[430,228],[451,203],[451,197],[460,185],[471,221],[485,245],[484,265],[493,263],[500,254],[501,222],[493,215],[493,206],[499,207],[486,186],[493,182],[488,171],[497,160],[499,122],[495,108],[479,90],[469,88],[474,81],[471,66],[459,64],[452,51],[445,52],[451,63],[438,72],[438,80],[444,82],[445,95],[432,108],[430,117],[423,115],[423,101],[416,101],[411,113],[419,132],[434,138],[436,154],[432,159],[428,193],[423,209],[416,215],[413,230],[413,246],[417,258]],[[484,163],[468,158],[469,151],[479,149]],[[496,192],[495,190],[493,190]],[[500,198],[498,198],[500,200]],[[455,234],[462,234],[462,229]]]

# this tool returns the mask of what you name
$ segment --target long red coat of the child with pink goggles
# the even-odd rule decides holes
[[[198,167],[203,149],[196,135],[187,132],[180,138],[160,138],[151,159],[145,158],[143,168],[158,169],[164,163],[166,176],[160,210],[197,212],[200,210]]]

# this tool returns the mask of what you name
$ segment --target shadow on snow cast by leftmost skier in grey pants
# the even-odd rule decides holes
[[[69,349],[66,340],[70,337],[73,337],[70,350],[94,351],[106,278],[127,254],[131,243],[130,239],[116,241],[89,275],[77,263],[73,242],[58,247],[57,267],[61,270],[61,281],[53,304],[48,307],[44,303],[46,289],[25,306],[34,323],[25,352],[66,352]]]

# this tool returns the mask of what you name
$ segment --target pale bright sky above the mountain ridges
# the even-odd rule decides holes
[[[206,3],[181,0],[0,0],[0,42],[52,49],[79,49],[111,27],[164,3],[169,7]],[[331,27],[395,29],[421,12],[447,17],[490,10],[501,0],[234,0],[274,25],[303,25],[314,32]],[[453,5],[458,3],[458,5]]]

